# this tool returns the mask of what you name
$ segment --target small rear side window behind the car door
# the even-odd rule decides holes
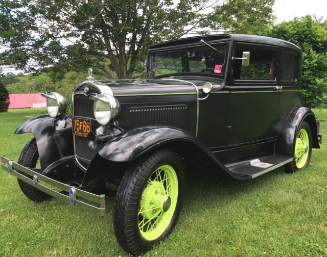
[[[296,82],[297,62],[294,55],[283,53],[279,67],[279,72],[281,73],[281,81]]]

